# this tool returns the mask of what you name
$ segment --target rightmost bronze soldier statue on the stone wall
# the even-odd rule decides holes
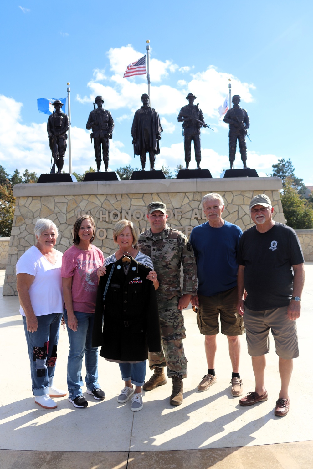
[[[229,124],[229,161],[230,169],[234,169],[234,161],[236,157],[237,139],[239,142],[239,151],[244,169],[249,169],[247,163],[247,146],[245,144],[245,136],[247,129],[249,129],[250,122],[247,111],[239,106],[240,96],[234,94],[232,98],[234,106],[227,111],[223,119],[224,122]]]

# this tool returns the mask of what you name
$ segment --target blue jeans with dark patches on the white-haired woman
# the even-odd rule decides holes
[[[62,316],[62,313],[37,316],[36,332],[27,331],[26,318],[22,316],[28,355],[31,360],[31,389],[34,396],[48,394],[48,387],[53,384]]]

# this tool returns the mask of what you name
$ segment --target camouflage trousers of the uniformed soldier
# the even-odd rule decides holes
[[[183,325],[183,313],[177,310],[179,296],[170,300],[158,301],[162,352],[149,352],[149,367],[153,370],[156,366],[166,366],[168,378],[178,376],[187,377],[187,362],[183,350],[183,339],[186,337],[186,329]]]

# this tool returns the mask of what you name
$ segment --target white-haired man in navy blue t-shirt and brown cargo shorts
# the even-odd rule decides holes
[[[237,312],[237,250],[242,231],[222,219],[224,201],[220,194],[206,194],[201,201],[207,222],[193,228],[190,243],[197,262],[198,295],[191,298],[197,307],[197,323],[205,335],[207,373],[198,385],[206,391],[216,383],[214,358],[216,334],[227,336],[233,373],[231,395],[241,396],[242,380],[239,375],[240,340],[244,334],[243,320]],[[194,308],[195,310],[196,308]]]

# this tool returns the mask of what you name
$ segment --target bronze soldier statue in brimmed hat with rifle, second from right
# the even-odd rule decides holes
[[[198,107],[198,104],[197,106],[193,104],[193,101],[196,98],[197,97],[194,96],[193,93],[189,93],[188,96],[186,96],[189,104],[182,107],[177,117],[178,122],[183,122],[183,145],[185,149],[186,169],[189,168],[191,159],[191,140],[193,140],[195,148],[197,169],[201,169],[200,127],[208,127],[204,121],[202,111]]]

